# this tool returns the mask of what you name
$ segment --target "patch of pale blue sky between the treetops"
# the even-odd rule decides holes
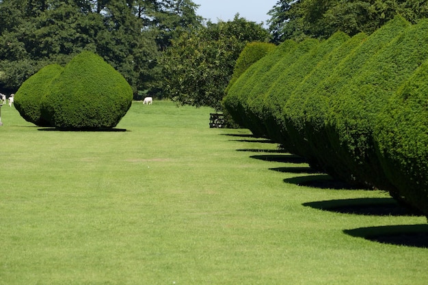
[[[271,18],[267,12],[277,2],[278,0],[193,0],[193,3],[200,5],[196,14],[211,19],[213,23],[217,23],[217,19],[233,20],[235,14],[239,13],[247,21],[266,24]]]

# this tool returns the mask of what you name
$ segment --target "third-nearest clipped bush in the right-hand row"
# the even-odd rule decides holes
[[[304,103],[306,139],[310,152],[317,159],[317,165],[331,176],[360,185],[360,180],[356,180],[348,165],[339,163],[341,154],[336,152],[330,142],[330,136],[336,135],[330,131],[331,126],[326,124],[332,102],[347,92],[347,85],[358,77],[371,57],[409,26],[410,23],[398,16],[386,23],[345,57],[327,79],[319,82],[314,92],[308,94]]]

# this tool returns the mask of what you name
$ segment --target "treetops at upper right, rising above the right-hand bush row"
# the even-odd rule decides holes
[[[425,0],[279,0],[269,11],[275,42],[305,37],[329,38],[336,31],[349,36],[371,34],[397,14],[411,23],[428,16]]]

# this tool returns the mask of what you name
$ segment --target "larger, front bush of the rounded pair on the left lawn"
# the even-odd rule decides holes
[[[83,51],[56,77],[42,98],[42,116],[65,129],[112,128],[131,107],[132,88],[104,60]]]

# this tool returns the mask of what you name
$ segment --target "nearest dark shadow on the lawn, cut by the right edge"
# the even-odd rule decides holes
[[[428,248],[427,224],[356,228],[343,232],[377,243]]]

